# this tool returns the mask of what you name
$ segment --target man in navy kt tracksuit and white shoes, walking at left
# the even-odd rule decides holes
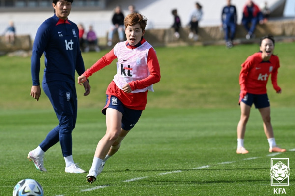
[[[29,152],[38,170],[47,171],[43,166],[44,152],[60,142],[66,162],[65,172],[84,173],[73,161],[72,131],[77,118],[77,94],[75,88],[75,71],[81,75],[85,71],[79,48],[79,31],[75,23],[68,20],[73,0],[53,0],[54,15],[38,28],[31,57],[31,74],[33,86],[31,96],[37,101],[41,95],[39,82],[40,57],[44,53],[45,69],[42,87],[48,96],[59,125],[52,129],[45,140]],[[90,85],[84,83],[85,93],[90,93]]]

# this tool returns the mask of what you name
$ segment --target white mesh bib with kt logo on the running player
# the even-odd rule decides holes
[[[146,41],[135,49],[126,47],[126,42],[119,42],[114,47],[114,55],[117,56],[117,74],[113,81],[122,89],[126,83],[142,80],[147,78],[150,73],[148,70],[148,51],[152,46]],[[152,85],[135,89],[132,93],[145,92],[147,90],[154,91]]]

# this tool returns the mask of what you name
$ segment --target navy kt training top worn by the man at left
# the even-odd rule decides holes
[[[43,82],[65,81],[75,84],[75,70],[84,73],[85,67],[79,47],[79,32],[75,23],[59,19],[55,14],[38,28],[31,57],[33,85],[40,85],[40,57],[44,52]]]

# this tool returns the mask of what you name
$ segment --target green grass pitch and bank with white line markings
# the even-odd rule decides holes
[[[240,64],[257,50],[250,44],[230,50],[224,46],[156,48],[161,81],[149,93],[139,123],[91,185],[86,174],[64,172],[59,144],[46,152],[47,173],[27,160],[28,152],[58,121],[44,93],[39,102],[29,95],[30,58],[0,56],[0,196],[12,195],[15,184],[25,178],[40,182],[45,196],[278,195],[274,188],[294,196],[294,43],[276,44],[283,93],[276,94],[270,81],[268,85],[276,142],[289,151],[268,152],[260,114],[253,108],[245,137],[249,154],[236,154]],[[83,54],[86,68],[106,52]],[[97,142],[105,133],[100,110],[114,74],[115,63],[94,74],[87,97],[77,85],[73,157],[85,170],[91,167]],[[289,186],[270,185],[271,158],[289,158]]]

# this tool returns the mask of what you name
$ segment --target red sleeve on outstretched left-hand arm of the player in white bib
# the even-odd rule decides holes
[[[98,61],[96,61],[96,63],[94,63],[82,75],[85,76],[86,78],[88,78],[89,76],[91,76],[92,74],[97,72],[98,70],[100,70],[100,69],[104,68],[105,66],[111,64],[112,61],[114,59],[116,59],[116,58],[117,58],[117,56],[115,56],[115,54],[114,54],[114,49],[112,49],[110,52],[108,52],[103,57],[101,57]]]

